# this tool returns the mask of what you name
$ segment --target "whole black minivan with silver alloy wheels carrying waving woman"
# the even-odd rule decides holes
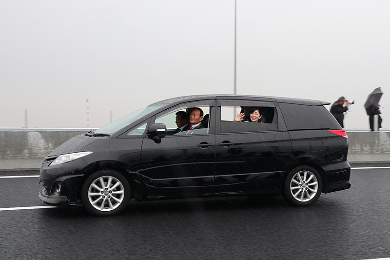
[[[132,198],[276,194],[307,206],[322,192],[351,187],[348,136],[328,104],[236,95],[162,100],[60,145],[42,162],[39,198],[82,204],[97,216],[118,214]]]

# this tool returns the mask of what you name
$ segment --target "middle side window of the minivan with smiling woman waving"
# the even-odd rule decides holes
[[[221,102],[221,133],[277,131],[277,111],[273,102]]]

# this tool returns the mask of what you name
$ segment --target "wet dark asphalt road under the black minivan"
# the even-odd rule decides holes
[[[38,175],[38,171],[1,172]],[[390,169],[352,169],[349,190],[307,208],[281,197],[0,211],[1,259],[374,259],[390,257]],[[0,179],[0,208],[44,206],[38,178]]]

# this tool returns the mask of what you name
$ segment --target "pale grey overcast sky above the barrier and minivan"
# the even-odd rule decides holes
[[[390,1],[237,0],[237,94],[355,100],[381,86]],[[101,127],[152,102],[233,94],[234,0],[0,0],[0,127]],[[327,106],[329,109],[329,106]]]

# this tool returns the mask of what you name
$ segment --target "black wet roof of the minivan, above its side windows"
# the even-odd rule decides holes
[[[296,98],[284,98],[284,97],[269,97],[269,96],[252,96],[252,95],[195,95],[195,96],[182,96],[166,100],[157,101],[156,103],[181,103],[186,101],[197,101],[197,100],[219,100],[219,99],[233,99],[233,100],[261,100],[261,101],[276,101],[279,103],[291,103],[300,105],[329,105],[330,102],[320,100],[307,100],[307,99],[296,99]]]

